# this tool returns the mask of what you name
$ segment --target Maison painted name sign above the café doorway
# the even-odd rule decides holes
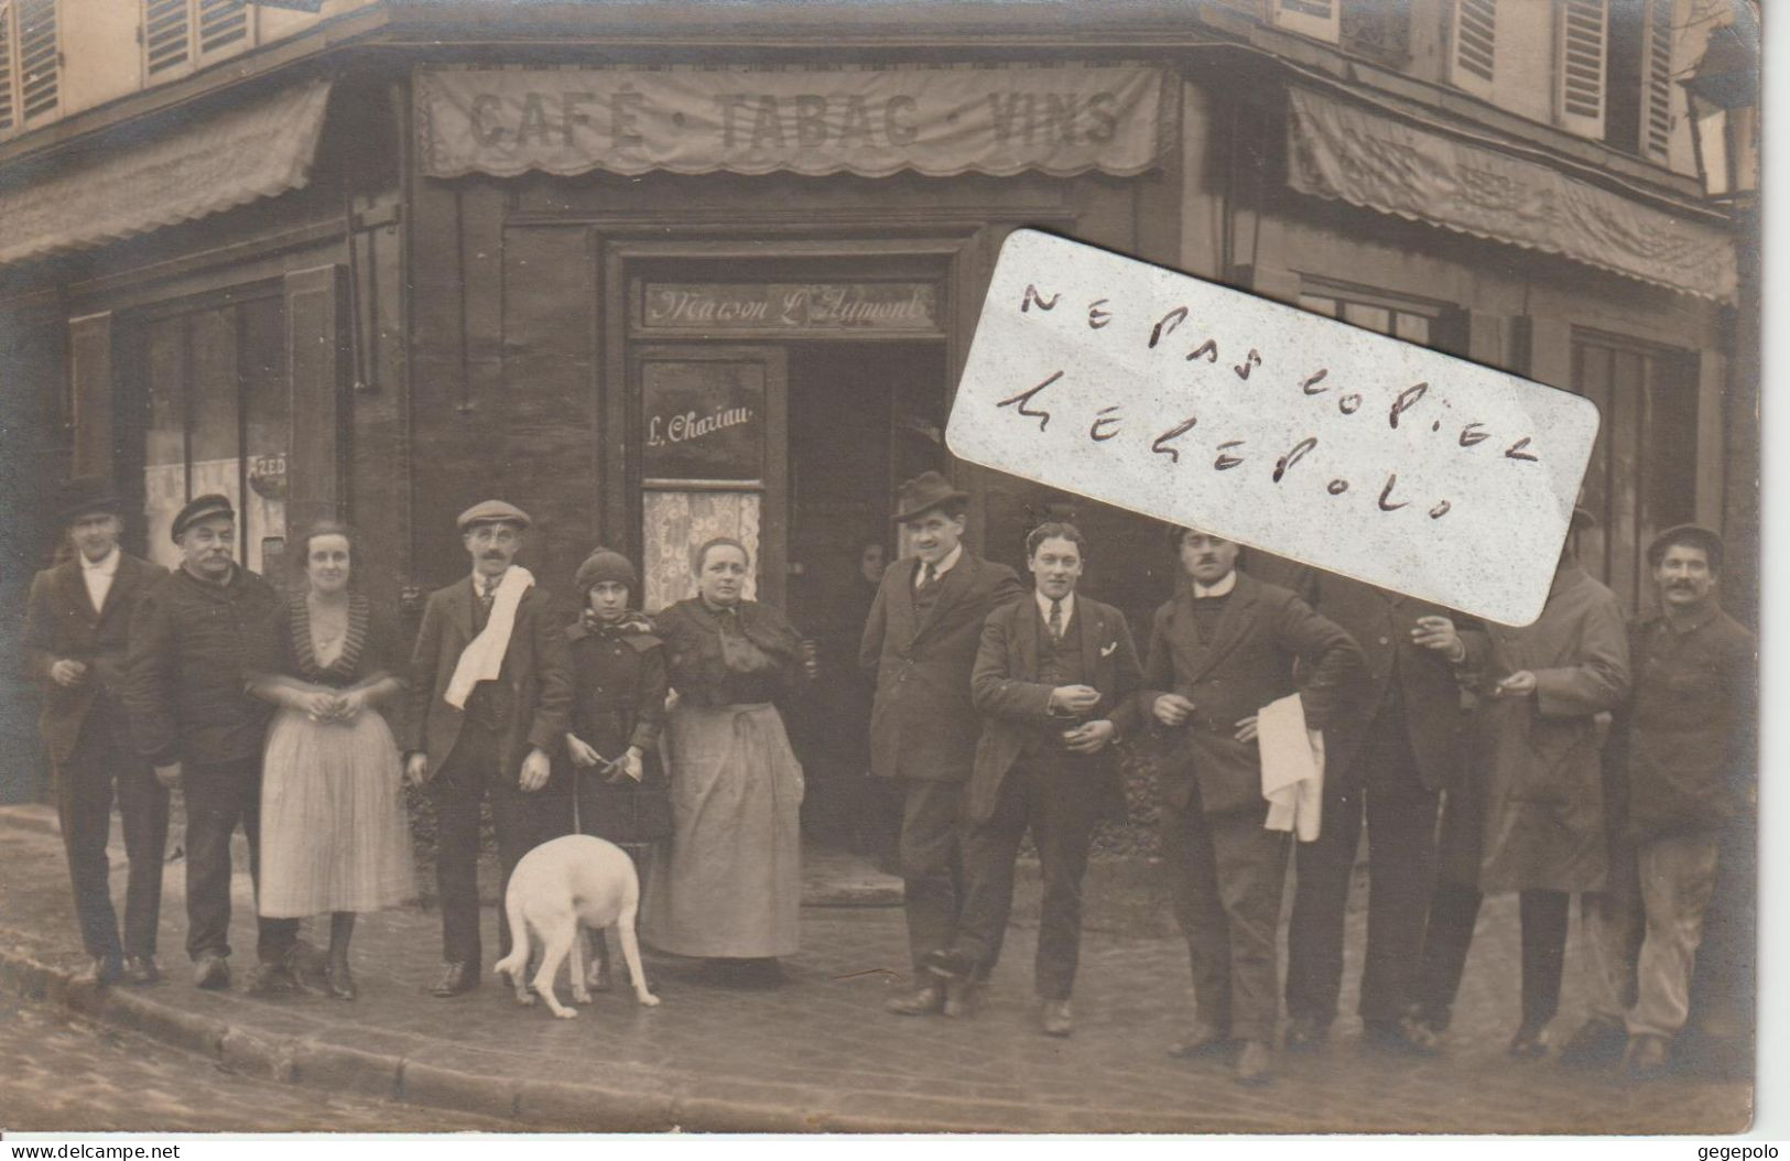
[[[652,283],[648,327],[936,331],[933,283]]]

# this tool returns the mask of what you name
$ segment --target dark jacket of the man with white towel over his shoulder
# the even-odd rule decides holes
[[[478,597],[465,576],[430,594],[410,658],[410,689],[403,750],[424,751],[433,775],[460,741],[465,712],[444,699],[460,653],[476,637]],[[507,705],[499,750],[503,776],[519,778],[532,746],[551,755],[564,741],[571,714],[571,655],[566,633],[555,624],[551,599],[539,587],[523,592],[516,628],[498,673],[499,698]]]

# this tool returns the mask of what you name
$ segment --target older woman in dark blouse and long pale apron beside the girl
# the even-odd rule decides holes
[[[677,691],[666,730],[673,834],[646,882],[641,937],[709,959],[716,982],[775,986],[777,957],[797,950],[802,767],[771,701],[807,665],[784,615],[743,599],[743,544],[709,540],[693,564],[698,596],[653,619]]]

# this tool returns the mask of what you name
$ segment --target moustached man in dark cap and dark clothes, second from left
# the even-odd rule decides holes
[[[186,953],[193,984],[229,987],[231,834],[261,875],[261,742],[268,707],[247,694],[243,660],[279,594],[236,564],[236,510],[199,496],[174,517],[181,567],[156,583],[131,626],[125,705],[138,751],[186,800]],[[295,986],[297,919],[260,919],[256,989]]]

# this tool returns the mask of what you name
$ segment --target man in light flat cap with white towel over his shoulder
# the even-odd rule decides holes
[[[571,662],[546,594],[516,553],[528,513],[487,499],[460,513],[473,574],[430,594],[410,660],[405,775],[435,791],[435,877],[442,902],[442,957],[430,989],[455,996],[478,987],[478,809],[487,791],[498,828],[503,884],[535,844],[571,834],[571,784],[553,778],[550,755],[567,730]],[[510,928],[498,912],[498,953]]]

